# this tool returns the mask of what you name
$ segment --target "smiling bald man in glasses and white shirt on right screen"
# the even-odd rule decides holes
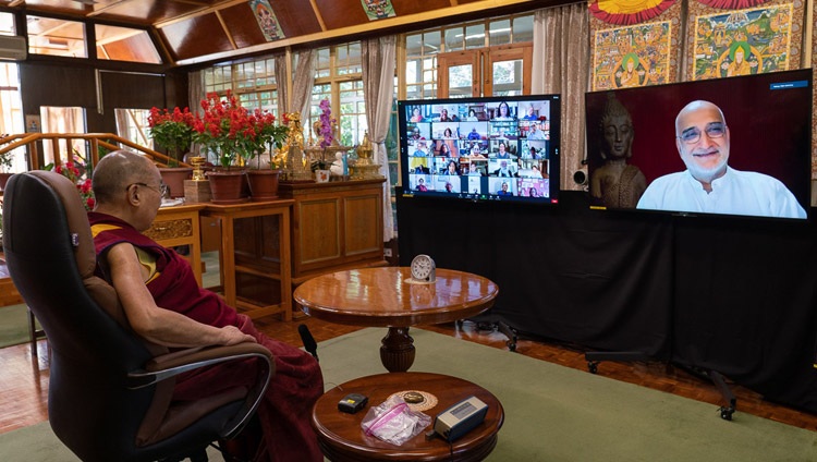
[[[703,100],[686,105],[675,118],[675,146],[686,170],[653,181],[637,208],[806,217],[781,181],[729,167],[729,127],[719,107]]]

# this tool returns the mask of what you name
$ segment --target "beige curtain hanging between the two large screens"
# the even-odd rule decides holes
[[[587,171],[584,93],[588,87],[589,26],[586,3],[539,10],[534,14],[534,60],[531,88],[562,95],[562,189],[581,189],[570,181]]]

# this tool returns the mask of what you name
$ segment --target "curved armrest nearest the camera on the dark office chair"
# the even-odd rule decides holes
[[[261,399],[264,399],[264,393],[267,391],[269,380],[275,373],[272,353],[266,346],[259,343],[244,342],[229,346],[192,348],[163,354],[150,360],[145,365],[144,369],[129,373],[129,388],[138,389],[167,380],[188,370],[253,357],[258,358],[261,364],[258,374],[259,379],[247,392],[241,412],[236,413],[235,416],[224,425],[223,430],[221,431],[222,438],[230,439],[237,435],[247,422],[249,422],[249,418],[255,413],[258,404],[260,404]]]

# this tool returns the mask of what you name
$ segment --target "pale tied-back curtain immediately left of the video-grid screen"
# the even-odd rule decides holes
[[[366,123],[369,141],[375,149],[373,158],[380,165],[383,183],[383,241],[394,238],[394,219],[391,208],[391,181],[386,135],[389,132],[394,97],[394,65],[397,37],[373,38],[361,42],[363,60],[363,95],[366,100]]]

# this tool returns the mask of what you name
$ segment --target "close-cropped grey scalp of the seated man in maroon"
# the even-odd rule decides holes
[[[156,166],[149,158],[127,150],[114,150],[102,157],[92,179],[94,196],[99,204],[111,204],[124,197],[132,183],[149,183]]]

